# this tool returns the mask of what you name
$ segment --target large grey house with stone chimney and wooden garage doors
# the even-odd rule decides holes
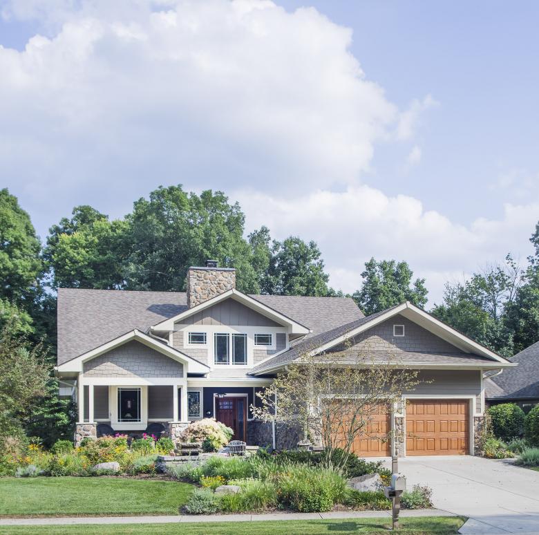
[[[349,351],[368,344],[419,369],[422,383],[395,417],[384,409],[375,418],[382,431],[405,426],[406,455],[473,453],[484,374],[515,366],[410,303],[364,317],[348,298],[247,295],[234,269],[208,261],[189,268],[185,293],[59,289],[55,372],[77,393],[77,442],[100,423],[142,433],[160,422],[174,439],[215,417],[236,439],[283,449],[301,437],[252,418],[256,392],[305,350],[330,355],[345,340]],[[354,451],[393,447],[362,438]]]

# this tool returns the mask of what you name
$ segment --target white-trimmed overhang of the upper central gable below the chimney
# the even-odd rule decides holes
[[[244,294],[243,292],[240,292],[235,288],[227,290],[226,292],[223,292],[216,297],[212,297],[211,299],[208,299],[207,301],[204,301],[197,306],[193,306],[192,308],[185,310],[181,314],[178,314],[169,319],[165,319],[164,321],[161,321],[160,323],[157,323],[156,325],[151,327],[151,330],[156,332],[170,332],[174,330],[174,323],[178,323],[183,319],[186,319],[193,314],[196,314],[197,312],[214,306],[221,301],[225,301],[225,299],[234,299],[234,301],[238,301],[238,303],[241,303],[243,306],[255,310],[259,314],[269,319],[272,319],[283,327],[289,328],[291,334],[307,335],[309,332],[311,332],[309,328],[305,327],[301,323],[298,323],[297,321],[294,321],[294,319],[281,314],[281,312],[278,312],[274,308],[264,305],[260,301],[256,301],[256,299],[253,299],[249,295]]]

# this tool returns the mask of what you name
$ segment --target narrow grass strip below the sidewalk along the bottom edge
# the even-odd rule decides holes
[[[402,518],[395,534],[455,534],[464,523],[460,516]],[[267,522],[216,522],[178,524],[79,525],[79,526],[8,526],[0,534],[37,535],[73,534],[152,534],[152,535],[350,535],[388,534],[391,520],[386,518],[350,518],[338,520],[270,520]]]

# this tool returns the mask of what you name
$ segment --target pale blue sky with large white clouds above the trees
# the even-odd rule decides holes
[[[535,1],[0,0],[0,187],[41,238],[159,185],[321,248],[406,260],[429,306],[539,220]]]

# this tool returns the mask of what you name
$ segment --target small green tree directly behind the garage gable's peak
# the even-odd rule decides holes
[[[361,290],[354,292],[352,297],[366,316],[404,301],[423,308],[428,294],[425,279],[415,279],[412,283],[412,277],[413,271],[406,262],[377,262],[372,258],[365,263],[365,271],[361,273]]]

